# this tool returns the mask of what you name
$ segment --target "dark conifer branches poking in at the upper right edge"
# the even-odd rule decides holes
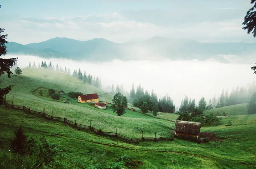
[[[247,34],[252,33],[253,37],[256,37],[256,0],[251,0],[250,4],[253,4],[253,7],[247,11],[244,17],[243,29],[247,30]],[[251,67],[251,69],[256,74],[256,66]]]

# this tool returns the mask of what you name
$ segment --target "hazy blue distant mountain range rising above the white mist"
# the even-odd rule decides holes
[[[109,61],[120,60],[207,60],[254,63],[256,43],[200,43],[190,39],[170,39],[155,36],[145,41],[113,43],[95,38],[80,41],[55,37],[40,43],[22,45],[9,42],[9,54],[29,54],[44,58]]]

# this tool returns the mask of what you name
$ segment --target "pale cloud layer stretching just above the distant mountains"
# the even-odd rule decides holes
[[[197,8],[174,10],[113,11],[70,17],[44,18],[0,15],[9,41],[32,43],[53,37],[78,40],[105,38],[117,43],[145,40],[155,35],[190,38],[202,42],[247,41],[253,37],[242,30],[243,12]],[[231,12],[230,12],[231,11]],[[20,33],[22,32],[22,33]]]

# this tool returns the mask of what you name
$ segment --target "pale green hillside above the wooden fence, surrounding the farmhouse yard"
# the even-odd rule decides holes
[[[54,72],[47,69],[23,69],[20,76],[12,75],[10,79],[4,78],[4,85],[14,84],[12,91],[6,96],[6,100],[11,103],[14,95],[14,104],[30,107],[32,110],[42,112],[45,108],[47,114],[53,112],[54,116],[64,117],[68,120],[77,121],[77,123],[89,125],[106,132],[115,132],[127,137],[141,137],[142,131],[144,137],[157,137],[163,134],[163,137],[170,136],[170,129],[173,129],[174,123],[166,120],[149,117],[138,112],[127,111],[123,117],[111,113],[109,110],[99,110],[86,106],[86,104],[75,103],[67,104],[61,101],[45,100],[32,93],[39,86],[58,88],[69,91],[79,91],[85,93],[98,93],[100,100],[111,102],[113,95],[97,89],[96,87],[82,83],[75,77],[64,73]]]

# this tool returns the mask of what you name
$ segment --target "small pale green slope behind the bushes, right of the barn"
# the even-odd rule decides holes
[[[215,115],[219,115],[219,116],[222,116],[224,112],[227,115],[247,115],[248,114],[247,106],[248,106],[248,103],[236,104],[232,106],[225,106],[221,108],[206,110],[204,113],[205,114],[214,113]]]

